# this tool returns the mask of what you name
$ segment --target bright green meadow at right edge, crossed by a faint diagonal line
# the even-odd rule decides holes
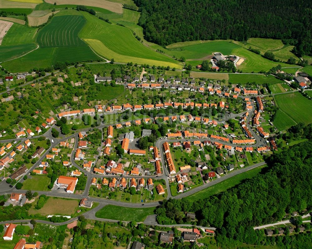
[[[309,124],[312,122],[312,101],[303,97],[299,92],[275,95],[275,102],[279,107],[274,125],[284,130],[299,122]]]

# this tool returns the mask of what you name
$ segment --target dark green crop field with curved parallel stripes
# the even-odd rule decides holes
[[[39,31],[36,41],[40,47],[84,45],[78,33],[85,22],[82,16],[54,17]]]

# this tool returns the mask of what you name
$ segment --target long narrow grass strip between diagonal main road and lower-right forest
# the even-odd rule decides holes
[[[221,192],[226,191],[229,188],[234,187],[235,185],[241,183],[241,181],[245,180],[245,179],[250,179],[254,176],[256,176],[257,174],[259,174],[261,172],[262,169],[266,168],[267,165],[262,165],[259,166],[255,169],[252,170],[248,170],[245,173],[239,174],[239,175],[235,175],[225,181],[222,181],[218,184],[215,184],[211,187],[208,187],[206,189],[203,189],[195,194],[192,194],[191,196],[186,197],[189,200],[192,201],[197,201],[197,200],[201,200],[201,199],[206,199],[209,196],[215,195],[215,194],[220,194]]]

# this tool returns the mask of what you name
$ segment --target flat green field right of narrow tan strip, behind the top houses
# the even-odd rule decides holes
[[[274,77],[273,75],[263,75],[263,74],[229,74],[229,81],[234,84],[247,82],[256,82],[257,84],[266,83],[282,83],[284,81]]]

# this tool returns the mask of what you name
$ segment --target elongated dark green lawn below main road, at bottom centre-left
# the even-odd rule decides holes
[[[144,221],[146,216],[154,214],[155,208],[125,208],[114,205],[107,205],[95,213],[98,218],[123,220],[123,221]]]

